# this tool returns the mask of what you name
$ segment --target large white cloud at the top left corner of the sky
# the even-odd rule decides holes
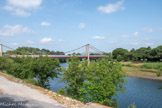
[[[7,0],[4,7],[6,11],[15,16],[30,16],[32,10],[36,10],[41,5],[42,0]]]

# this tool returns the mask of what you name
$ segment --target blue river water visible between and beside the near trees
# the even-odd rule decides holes
[[[62,67],[67,67],[66,63],[61,64]],[[125,94],[118,93],[118,103],[120,108],[128,108],[132,103],[137,108],[162,108],[162,82],[126,77],[128,83],[124,86],[127,88]],[[51,89],[57,91],[66,86],[65,83],[59,82],[60,78],[50,81]]]

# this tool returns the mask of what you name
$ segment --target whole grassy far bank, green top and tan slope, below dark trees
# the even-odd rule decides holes
[[[162,63],[133,63],[121,62],[128,76],[162,80]]]

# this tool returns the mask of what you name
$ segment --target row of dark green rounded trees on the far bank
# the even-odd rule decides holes
[[[118,61],[162,61],[162,45],[151,49],[151,47],[141,47],[137,50],[128,50],[123,48],[117,48],[112,52],[114,59]]]

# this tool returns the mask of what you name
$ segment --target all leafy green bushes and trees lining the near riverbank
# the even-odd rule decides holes
[[[69,97],[86,102],[96,102],[104,105],[115,106],[112,97],[117,96],[117,91],[124,92],[123,84],[125,72],[120,63],[112,59],[103,58],[82,62],[73,57],[68,62],[67,69],[61,69],[58,60],[40,56],[40,58],[0,57],[0,70],[7,74],[34,83],[35,85],[49,88],[49,78],[56,78],[63,71],[62,81],[67,83]],[[60,93],[61,90],[59,91]]]

